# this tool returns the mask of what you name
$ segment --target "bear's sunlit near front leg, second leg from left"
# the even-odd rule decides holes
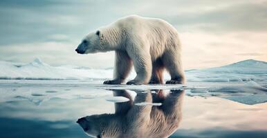
[[[127,49],[129,57],[133,61],[133,67],[136,70],[136,77],[127,82],[127,85],[147,84],[151,77],[152,63],[149,53],[149,47],[129,46]]]

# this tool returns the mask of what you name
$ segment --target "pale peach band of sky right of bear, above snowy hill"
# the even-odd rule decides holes
[[[208,32],[182,32],[180,37],[183,64],[187,69],[223,66],[245,59],[267,59],[265,32],[231,32],[219,36]],[[254,55],[239,55],[243,53]]]

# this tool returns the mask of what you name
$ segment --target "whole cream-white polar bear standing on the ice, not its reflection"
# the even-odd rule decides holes
[[[115,50],[113,80],[104,84],[124,83],[133,66],[136,77],[127,84],[163,83],[166,68],[171,80],[184,83],[181,43],[172,25],[162,19],[137,15],[123,17],[109,26],[86,35],[75,50],[79,54]]]

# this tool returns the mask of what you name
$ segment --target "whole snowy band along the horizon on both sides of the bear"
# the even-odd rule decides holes
[[[267,81],[267,63],[249,59],[217,68],[186,70],[185,74],[187,82]],[[135,75],[132,71],[129,79],[133,79]],[[112,77],[112,68],[50,66],[38,58],[30,63],[0,61],[0,79],[105,80]],[[165,80],[167,79],[170,77],[165,72]]]

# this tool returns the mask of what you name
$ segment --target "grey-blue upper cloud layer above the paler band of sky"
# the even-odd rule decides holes
[[[80,39],[90,30],[128,14],[160,17],[183,32],[267,29],[266,1],[5,0],[0,1],[0,8],[0,44],[46,41],[50,34]]]

